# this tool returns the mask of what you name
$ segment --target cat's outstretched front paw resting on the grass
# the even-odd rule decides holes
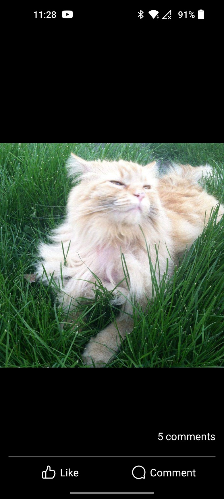
[[[87,366],[105,367],[114,357],[107,345],[99,343],[99,341],[97,337],[91,338],[84,349],[83,361]]]

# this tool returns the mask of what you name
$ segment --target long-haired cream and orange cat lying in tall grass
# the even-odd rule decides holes
[[[166,271],[167,258],[171,275],[177,255],[202,233],[218,201],[198,184],[212,173],[209,166],[174,165],[157,178],[155,162],[142,167],[123,160],[85,161],[72,154],[68,167],[80,182],[70,192],[65,222],[50,236],[52,244],[39,247],[42,262],[37,277],[48,282],[53,275],[61,287],[63,306],[74,309],[76,298],[95,296],[93,273],[109,290],[122,281],[114,291],[114,302],[121,304],[116,324],[100,331],[84,350],[87,365],[104,367],[132,331],[130,302],[135,299],[144,307],[151,297],[148,252],[156,278]],[[218,221],[223,213],[221,205]],[[121,253],[129,275],[126,280]]]

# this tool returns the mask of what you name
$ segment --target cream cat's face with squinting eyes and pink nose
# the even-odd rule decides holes
[[[77,158],[77,157],[76,157]],[[80,161],[83,161],[79,158]],[[88,162],[78,191],[83,214],[102,213],[105,220],[140,224],[157,204],[154,163]]]

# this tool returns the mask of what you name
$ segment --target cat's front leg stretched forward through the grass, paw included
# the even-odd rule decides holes
[[[121,340],[125,337],[126,333],[132,331],[133,319],[129,316],[128,318],[119,318],[118,316],[116,325],[117,327],[112,322],[100,331],[97,336],[91,338],[83,352],[84,362],[88,366],[93,367],[94,363],[96,367],[105,367],[108,362],[112,361],[114,354],[121,345]]]

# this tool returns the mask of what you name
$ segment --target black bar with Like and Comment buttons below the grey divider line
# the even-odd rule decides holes
[[[24,497],[35,493],[39,497],[52,497],[59,493],[69,497],[72,492],[154,492],[155,498],[162,498],[164,492],[171,497],[190,497],[198,494],[200,497],[215,497],[219,485],[216,480],[216,458],[160,458],[160,457],[49,457],[49,458],[10,458],[15,480],[13,492],[23,490]],[[19,466],[18,466],[19,463]],[[135,466],[145,468],[145,479],[136,480],[132,476]],[[54,479],[43,480],[42,471],[50,466],[56,472]],[[78,471],[78,477],[61,477],[70,471]],[[154,470],[194,470],[195,477],[151,477]],[[22,472],[23,470],[23,472]],[[61,472],[62,470],[62,472]],[[140,468],[140,471],[143,470]],[[136,472],[136,470],[135,470]],[[21,479],[21,474],[27,478]],[[11,490],[11,492],[12,492]],[[195,496],[196,497],[196,496]]]

